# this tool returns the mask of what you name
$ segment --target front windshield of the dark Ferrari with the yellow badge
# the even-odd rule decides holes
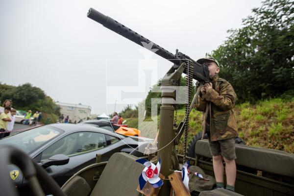
[[[61,133],[63,133],[62,130],[52,126],[41,126],[3,138],[0,140],[0,145],[12,145],[29,153],[35,151]]]

